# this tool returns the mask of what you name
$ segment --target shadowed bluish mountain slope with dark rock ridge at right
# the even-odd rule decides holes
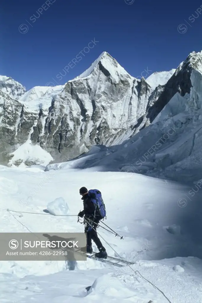
[[[180,182],[194,181],[200,187],[202,52],[191,53],[164,87],[155,88],[154,94],[160,88],[161,94],[148,110],[151,122],[148,127],[121,145],[92,149],[71,167],[97,167]]]

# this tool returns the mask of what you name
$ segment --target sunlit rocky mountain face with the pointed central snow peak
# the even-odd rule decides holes
[[[40,160],[46,152],[48,161],[59,162],[93,145],[121,144],[149,123],[148,111],[161,91],[131,77],[107,52],[65,85],[34,87],[18,100],[2,89],[0,162],[47,165]],[[41,148],[38,158],[33,145]]]

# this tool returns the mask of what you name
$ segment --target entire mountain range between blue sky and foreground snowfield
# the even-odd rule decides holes
[[[0,161],[48,165],[79,156],[79,168],[199,180],[201,76],[202,52],[147,80],[104,52],[65,85],[35,87],[18,100],[0,91]]]

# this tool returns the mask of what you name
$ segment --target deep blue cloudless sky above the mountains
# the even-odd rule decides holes
[[[149,75],[176,68],[190,52],[202,50],[200,5],[181,0],[4,2],[0,74],[27,89],[48,82],[61,85],[84,72],[103,51],[134,77],[145,69]],[[73,64],[79,53],[82,59]],[[69,63],[66,75],[56,78]]]

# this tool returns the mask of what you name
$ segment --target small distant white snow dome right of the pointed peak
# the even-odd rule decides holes
[[[152,89],[155,89],[158,85],[165,85],[175,71],[176,69],[172,68],[169,72],[154,72],[146,78],[146,81]]]

